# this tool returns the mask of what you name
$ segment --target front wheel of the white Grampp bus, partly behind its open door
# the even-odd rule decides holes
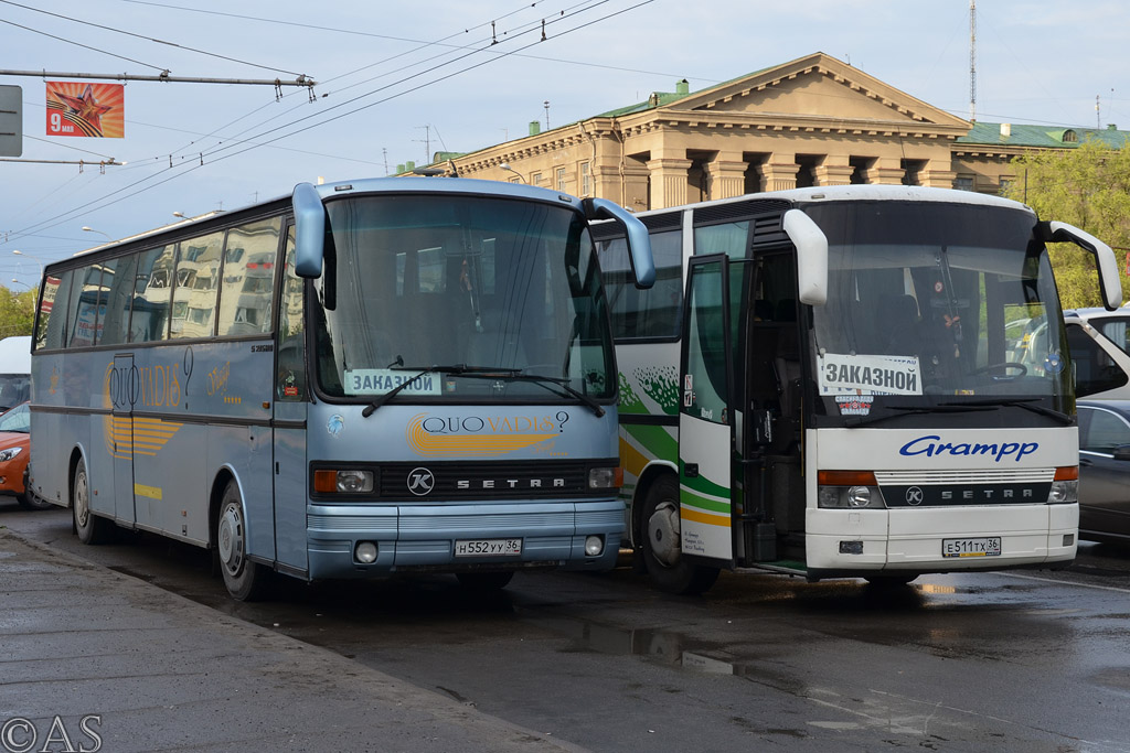
[[[683,559],[679,525],[679,484],[672,476],[659,479],[647,491],[643,510],[643,559],[647,575],[669,594],[701,594],[718,580],[718,568],[692,564]]]

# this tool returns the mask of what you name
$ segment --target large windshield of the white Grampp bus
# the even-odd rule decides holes
[[[827,414],[1008,401],[1074,412],[1062,315],[1034,216],[868,202],[809,213],[829,244],[827,305],[812,309]]]

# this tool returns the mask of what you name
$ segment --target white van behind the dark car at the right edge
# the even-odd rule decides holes
[[[1130,400],[1130,308],[1063,312],[1079,397]]]

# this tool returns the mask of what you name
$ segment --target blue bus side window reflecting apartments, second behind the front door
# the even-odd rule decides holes
[[[182,240],[173,283],[173,339],[211,336],[224,234]]]

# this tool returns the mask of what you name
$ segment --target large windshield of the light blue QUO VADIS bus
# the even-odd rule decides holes
[[[324,395],[529,403],[615,394],[607,307],[580,213],[450,194],[342,198],[327,212],[325,270],[314,283]]]

